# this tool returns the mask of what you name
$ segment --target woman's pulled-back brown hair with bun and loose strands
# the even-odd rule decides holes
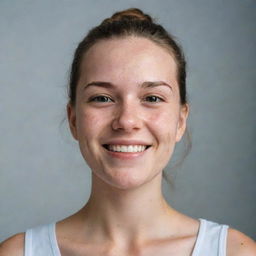
[[[161,25],[155,23],[148,14],[143,13],[137,8],[131,8],[114,13],[110,18],[103,20],[100,25],[92,28],[86,37],[79,43],[71,66],[69,103],[73,106],[76,103],[76,88],[80,77],[81,62],[84,54],[90,49],[90,47],[101,40],[126,36],[148,38],[171,53],[177,65],[177,81],[179,84],[180,104],[186,104],[186,61],[181,47],[177,44],[174,37]],[[187,130],[185,133],[185,138],[186,145],[185,151],[183,152],[183,157],[181,161],[174,165],[174,168],[183,162],[183,159],[190,151],[191,139]],[[173,184],[172,178],[169,178],[167,173],[163,172],[163,177],[169,185]]]

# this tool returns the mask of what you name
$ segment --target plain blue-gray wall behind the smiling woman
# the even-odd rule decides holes
[[[68,71],[88,29],[127,7],[156,17],[188,60],[193,148],[167,168],[168,201],[256,239],[255,0],[1,0],[0,240],[88,199],[90,171],[62,122]]]

